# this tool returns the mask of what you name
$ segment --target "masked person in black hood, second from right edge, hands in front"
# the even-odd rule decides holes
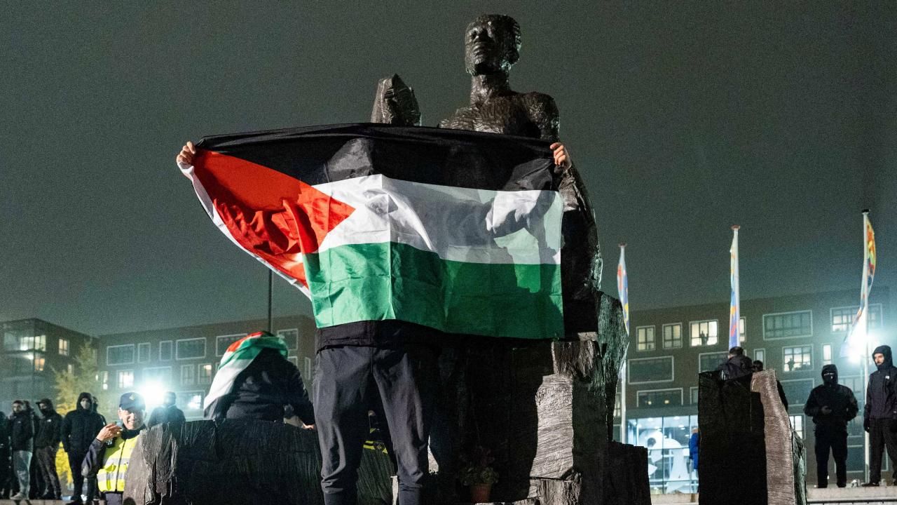
[[[853,391],[838,384],[838,368],[823,367],[823,384],[810,392],[804,413],[816,425],[816,487],[828,487],[829,449],[835,460],[838,487],[847,486],[847,423],[857,417],[859,407]]]

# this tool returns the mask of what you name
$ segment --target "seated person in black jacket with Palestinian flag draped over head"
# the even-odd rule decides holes
[[[314,428],[309,394],[287,353],[283,340],[269,332],[250,333],[233,342],[205,397],[206,419],[283,422],[283,409],[289,405],[305,428]]]

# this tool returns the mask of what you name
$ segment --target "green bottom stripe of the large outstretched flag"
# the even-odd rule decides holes
[[[453,333],[563,333],[560,265],[446,261],[385,243],[307,254],[305,271],[318,327],[400,319]]]

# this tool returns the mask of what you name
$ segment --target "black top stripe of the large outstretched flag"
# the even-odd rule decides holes
[[[549,142],[475,131],[347,124],[205,137],[197,145],[311,185],[382,173],[483,190],[551,190]]]

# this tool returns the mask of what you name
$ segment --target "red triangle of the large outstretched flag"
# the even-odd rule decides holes
[[[306,286],[301,255],[317,252],[354,210],[305,182],[234,156],[199,149],[194,168],[234,240]]]

